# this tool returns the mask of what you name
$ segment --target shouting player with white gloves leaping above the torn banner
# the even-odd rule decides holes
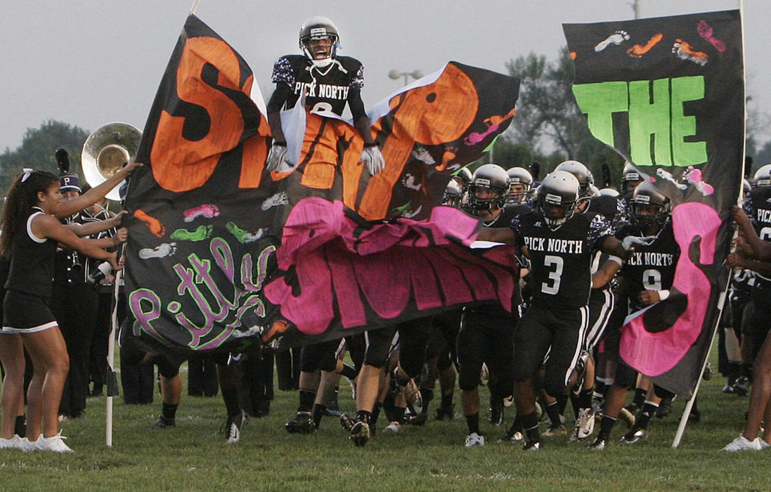
[[[350,56],[338,56],[338,29],[334,22],[317,15],[300,28],[302,55],[281,56],[273,66],[276,89],[268,101],[268,123],[273,145],[268,152],[268,170],[277,170],[287,159],[287,141],[281,130],[281,109],[290,109],[305,95],[305,106],[315,113],[342,116],[346,104],[353,123],[364,139],[361,162],[370,174],[379,174],[385,161],[372,138],[371,122],[364,109],[361,90],[364,66]]]

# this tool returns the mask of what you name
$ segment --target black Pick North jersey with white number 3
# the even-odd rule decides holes
[[[574,214],[556,231],[536,211],[514,217],[511,228],[530,254],[532,304],[581,308],[591,291],[591,261],[601,240],[614,234],[608,219],[594,212]]]

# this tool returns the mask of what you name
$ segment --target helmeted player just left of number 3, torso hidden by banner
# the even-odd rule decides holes
[[[468,207],[472,214],[482,219],[486,227],[505,227],[516,215],[513,208],[503,208],[509,190],[509,176],[497,164],[484,164],[471,178]],[[508,312],[496,302],[493,304],[466,306],[460,323],[456,344],[458,354],[458,386],[460,403],[469,434],[466,447],[484,446],[480,430],[480,371],[487,364],[490,371],[490,423],[503,421],[503,399],[511,396],[511,357],[513,356],[513,329],[520,304],[516,291],[512,299],[513,312]]]

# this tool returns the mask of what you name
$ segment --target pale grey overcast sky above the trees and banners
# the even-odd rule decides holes
[[[369,107],[402,86],[402,79],[389,79],[391,69],[429,73],[454,60],[505,73],[508,60],[529,52],[555,59],[566,44],[563,22],[631,19],[632,2],[202,0],[197,15],[246,59],[265,99],[274,60],[298,52],[302,22],[331,18],[341,54],[364,63]],[[49,119],[87,131],[111,121],[141,130],[191,5],[2,0],[0,153],[15,150],[27,128]],[[641,17],[738,7],[738,0],[639,0]],[[746,0],[744,8],[748,92],[758,110],[771,114],[771,6]]]

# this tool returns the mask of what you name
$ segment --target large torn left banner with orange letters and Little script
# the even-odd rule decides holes
[[[287,134],[298,165],[270,172],[251,69],[190,15],[126,197],[128,331],[166,351],[281,349],[469,302],[511,308],[510,248],[470,249],[479,221],[439,204],[506,130],[518,87],[448,62],[372,107],[382,174],[350,122],[315,113]]]

